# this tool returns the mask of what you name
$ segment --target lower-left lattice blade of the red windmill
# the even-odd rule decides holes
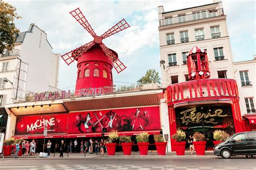
[[[77,59],[77,57],[82,55],[82,53],[84,53],[85,51],[89,50],[93,45],[95,45],[95,42],[91,41],[90,43],[82,45],[75,50],[65,53],[65,55],[62,55],[61,57],[64,59],[66,64],[70,65],[73,61]]]

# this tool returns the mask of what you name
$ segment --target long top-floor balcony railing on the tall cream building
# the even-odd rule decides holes
[[[223,15],[224,15],[224,11],[221,8],[221,9],[191,13],[188,15],[183,15],[183,16],[178,16],[178,17],[160,19],[159,24],[160,24],[160,26],[174,25],[174,24],[198,21],[201,19],[213,18],[213,17],[223,16]]]

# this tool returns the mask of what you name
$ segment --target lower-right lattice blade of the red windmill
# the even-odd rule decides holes
[[[117,73],[122,72],[124,69],[126,69],[126,66],[120,62],[120,60],[117,58],[116,55],[113,54],[113,52],[106,47],[105,44],[101,43],[99,44],[100,47],[102,47],[102,50],[105,52],[105,55],[109,57],[111,62],[113,63],[114,69],[116,69]]]

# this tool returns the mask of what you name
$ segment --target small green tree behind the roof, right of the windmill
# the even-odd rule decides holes
[[[160,77],[156,70],[150,69],[147,70],[145,76],[140,78],[137,82],[140,84],[160,83]]]

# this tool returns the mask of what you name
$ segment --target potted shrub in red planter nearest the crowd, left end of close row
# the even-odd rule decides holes
[[[114,155],[114,153],[116,152],[116,147],[117,147],[117,139],[118,139],[118,133],[117,131],[111,131],[108,133],[109,135],[109,140],[106,143],[106,147],[107,147],[107,155]]]

